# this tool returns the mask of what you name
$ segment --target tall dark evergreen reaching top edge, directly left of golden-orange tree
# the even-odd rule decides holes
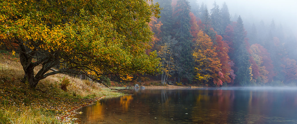
[[[177,73],[178,77],[186,78],[190,81],[193,77],[193,57],[192,57],[192,35],[190,34],[190,6],[187,0],[178,0],[176,6],[177,16],[175,18],[175,37],[178,41],[178,63]]]

